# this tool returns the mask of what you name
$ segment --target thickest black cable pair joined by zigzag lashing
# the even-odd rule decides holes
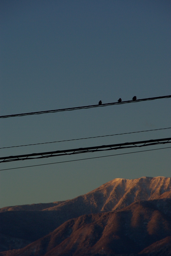
[[[112,144],[112,145],[87,147],[87,148],[74,148],[74,149],[57,150],[57,151],[50,151],[50,152],[43,152],[43,153],[7,156],[7,157],[0,157],[0,160],[2,160],[0,161],[0,163],[19,161],[19,160],[37,159],[37,158],[48,158],[48,157],[61,156],[61,155],[74,155],[74,154],[88,153],[88,152],[116,150],[121,148],[144,147],[144,146],[150,146],[150,145],[171,143],[170,140],[171,138],[164,138],[164,139],[157,139],[157,140],[143,140],[143,141],[136,141],[136,142],[126,142],[126,143],[118,143],[118,144]]]

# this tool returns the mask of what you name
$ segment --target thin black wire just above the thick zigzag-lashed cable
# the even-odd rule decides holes
[[[108,137],[108,136],[115,136],[115,135],[124,135],[124,134],[139,133],[139,132],[150,132],[150,131],[158,131],[158,130],[166,130],[166,129],[171,129],[171,127],[160,128],[160,129],[152,129],[152,130],[145,130],[145,131],[138,131],[138,132],[116,133],[116,134],[111,134],[111,135],[102,135],[102,136],[96,136],[96,137],[86,137],[86,138],[79,138],[79,139],[72,139],[72,140],[58,140],[58,141],[52,141],[52,142],[43,142],[43,143],[35,143],[35,144],[28,144],[28,145],[4,147],[4,148],[17,148],[17,147],[34,146],[34,145],[50,144],[50,143],[73,141],[73,140],[86,140],[86,139],[93,139],[93,138],[101,138],[101,137]],[[0,149],[3,149],[3,148],[0,148]]]

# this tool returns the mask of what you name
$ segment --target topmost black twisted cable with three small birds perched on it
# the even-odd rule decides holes
[[[153,98],[137,99],[136,101],[112,102],[112,103],[104,103],[104,104],[101,104],[101,105],[89,105],[89,106],[81,106],[81,107],[74,107],[74,108],[61,108],[61,109],[54,109],[54,110],[47,110],[47,111],[37,111],[37,112],[29,112],[29,113],[22,113],[22,114],[6,115],[6,116],[0,116],[0,118],[8,118],[8,117],[15,117],[15,116],[38,115],[38,114],[55,113],[55,112],[61,112],[61,111],[72,111],[72,110],[83,109],[83,108],[105,107],[105,106],[111,106],[111,105],[116,105],[116,104],[117,105],[118,104],[125,104],[125,103],[131,103],[131,102],[151,101],[151,100],[162,99],[162,98],[171,98],[171,95],[153,97]]]

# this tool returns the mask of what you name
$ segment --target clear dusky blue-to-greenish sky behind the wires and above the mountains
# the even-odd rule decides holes
[[[0,116],[170,95],[170,31],[169,0],[1,0]],[[0,118],[0,155],[168,138],[171,129],[72,140],[169,128],[170,103]],[[72,141],[13,147],[61,140]],[[72,199],[115,178],[170,177],[170,146],[0,163],[0,208]],[[72,161],[121,153],[131,154]]]

